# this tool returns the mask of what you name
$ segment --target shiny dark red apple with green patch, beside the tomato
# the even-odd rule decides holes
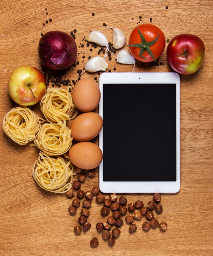
[[[201,67],[205,46],[200,37],[180,34],[172,38],[167,47],[167,61],[180,74],[192,74]]]

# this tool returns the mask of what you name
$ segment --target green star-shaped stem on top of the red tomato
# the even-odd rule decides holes
[[[138,27],[137,27],[138,28]],[[156,59],[152,53],[152,51],[150,50],[150,46],[154,45],[154,43],[157,42],[158,38],[159,38],[159,33],[158,33],[158,36],[152,40],[151,42],[147,42],[143,36],[143,34],[141,33],[140,29],[138,29],[138,32],[140,34],[140,37],[141,37],[141,43],[140,44],[134,44],[134,45],[128,45],[128,46],[132,46],[132,47],[138,47],[138,48],[141,48],[140,52],[139,52],[139,55],[142,57],[142,58],[145,58],[144,56],[142,56],[144,50],[154,59],[155,62]],[[147,60],[147,58],[145,58]]]

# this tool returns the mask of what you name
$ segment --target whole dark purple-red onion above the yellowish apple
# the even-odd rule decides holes
[[[62,31],[49,31],[44,34],[38,46],[42,63],[51,70],[70,67],[77,57],[77,45],[69,34]]]

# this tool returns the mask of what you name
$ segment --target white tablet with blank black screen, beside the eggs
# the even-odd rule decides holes
[[[180,77],[170,72],[100,75],[99,186],[103,193],[180,189]]]

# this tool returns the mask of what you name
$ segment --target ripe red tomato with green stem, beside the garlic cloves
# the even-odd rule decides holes
[[[138,61],[156,61],[165,45],[166,38],[162,30],[152,24],[139,25],[130,34],[129,49]]]

